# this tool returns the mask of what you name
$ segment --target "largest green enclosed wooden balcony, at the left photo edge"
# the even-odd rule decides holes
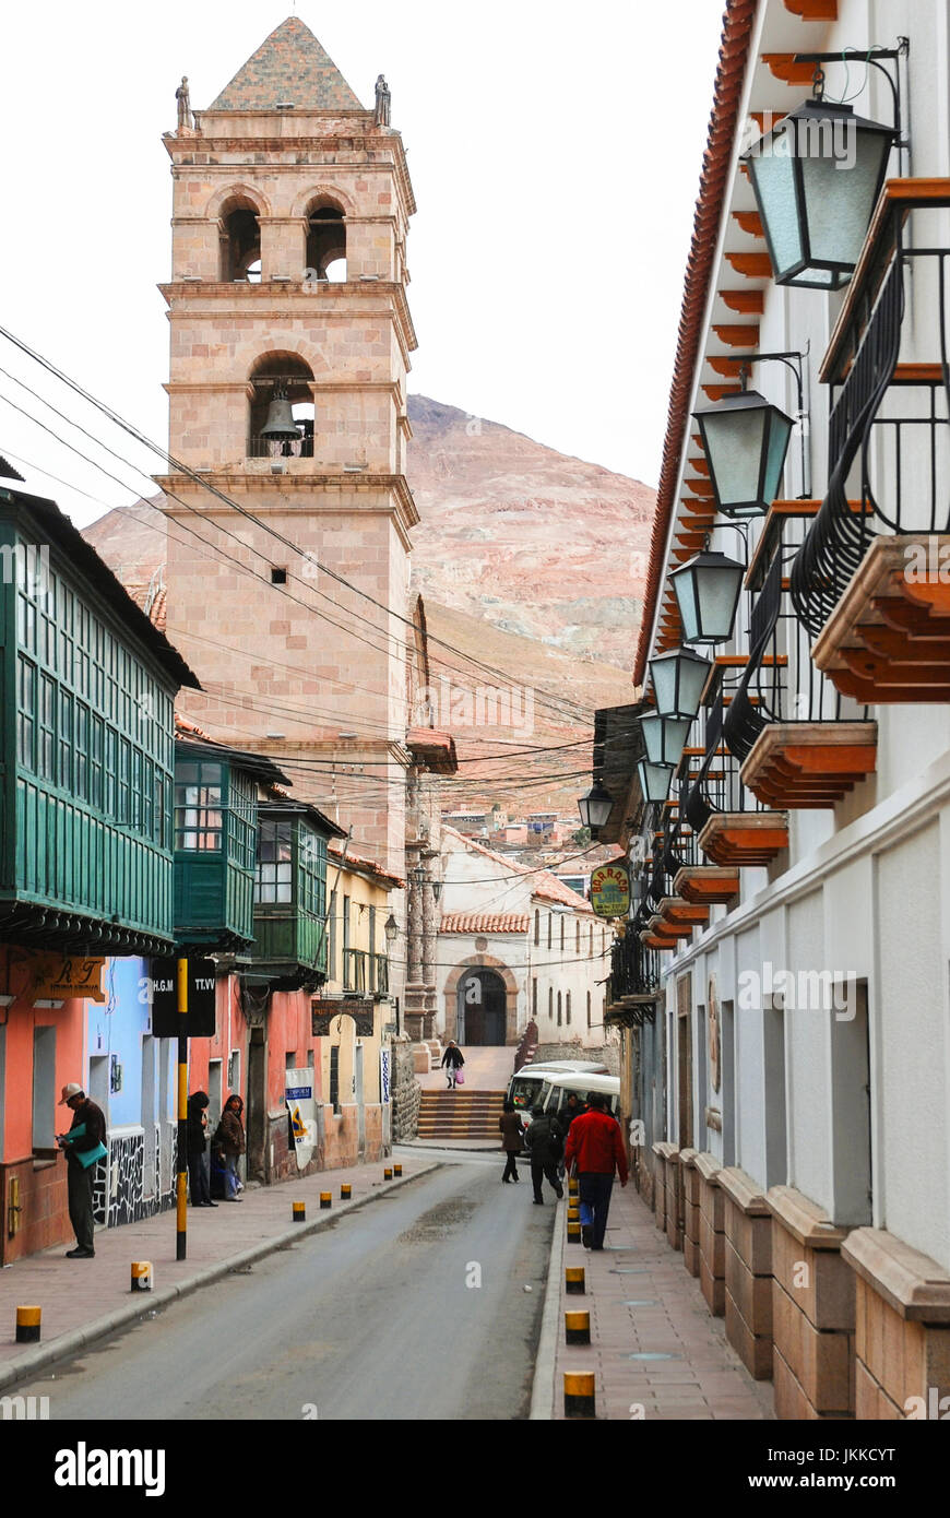
[[[53,501],[0,468],[0,940],[173,947],[173,700],[196,676]]]

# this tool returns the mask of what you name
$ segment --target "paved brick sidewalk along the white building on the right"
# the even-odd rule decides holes
[[[565,1205],[558,1228],[565,1230]],[[565,1266],[583,1264],[586,1296],[565,1293]],[[590,1346],[565,1345],[565,1312],[587,1309]],[[631,1359],[631,1356],[657,1359]],[[596,1416],[646,1421],[771,1419],[771,1381],[754,1381],[712,1318],[683,1255],[666,1243],[633,1186],[615,1181],[602,1254],[563,1245],[554,1418],[565,1416],[565,1371],[596,1374]]]

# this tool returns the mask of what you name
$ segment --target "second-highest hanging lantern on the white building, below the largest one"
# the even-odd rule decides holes
[[[763,516],[779,495],[792,427],[791,416],[757,390],[727,395],[692,413],[709,461],[716,510]]]

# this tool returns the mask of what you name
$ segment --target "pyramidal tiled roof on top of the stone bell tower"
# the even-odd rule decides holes
[[[363,111],[363,102],[297,15],[281,21],[209,109],[275,111],[288,100],[297,111]]]

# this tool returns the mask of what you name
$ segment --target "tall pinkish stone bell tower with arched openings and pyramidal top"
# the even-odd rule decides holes
[[[170,452],[199,480],[158,480],[167,631],[206,692],[184,707],[276,757],[296,797],[337,800],[354,847],[399,868],[417,522],[402,140],[382,77],[364,109],[297,17],[194,117],[187,88],[161,288]]]

